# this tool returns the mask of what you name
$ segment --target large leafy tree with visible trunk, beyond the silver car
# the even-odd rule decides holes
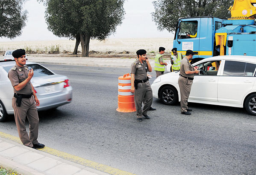
[[[125,0],[46,0],[48,29],[59,37],[76,39],[82,57],[89,55],[90,39],[105,40],[124,19]]]

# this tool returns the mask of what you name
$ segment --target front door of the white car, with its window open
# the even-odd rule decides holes
[[[194,76],[188,99],[214,102],[218,101],[217,85],[219,78],[218,68],[220,63],[220,60],[211,60],[194,66],[200,70],[200,73]]]

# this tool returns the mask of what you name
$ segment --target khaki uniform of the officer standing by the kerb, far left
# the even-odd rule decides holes
[[[26,80],[28,73],[29,69],[27,66],[19,67],[15,64],[15,66],[13,66],[8,72],[8,77],[12,86],[14,87]],[[16,91],[15,88],[13,88],[13,91],[15,94],[31,95],[33,92],[31,82],[29,81],[20,91]],[[32,147],[33,144],[38,144],[39,118],[37,108],[35,106],[35,98],[33,95],[30,98],[22,98],[20,107],[17,106],[16,100],[17,98],[12,98],[12,107],[14,109],[15,123],[19,137],[25,146]],[[29,135],[26,132],[26,116],[29,121]]]

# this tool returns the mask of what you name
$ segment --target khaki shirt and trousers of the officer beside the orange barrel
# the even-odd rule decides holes
[[[147,79],[147,62],[143,61],[143,64],[139,60],[136,60],[131,65],[131,74],[135,75],[135,80]],[[141,111],[142,100],[145,99],[143,110]],[[147,111],[153,101],[152,89],[149,81],[145,83],[138,83],[138,88],[134,91],[134,102],[137,111],[137,118],[142,118],[142,115],[147,115]]]

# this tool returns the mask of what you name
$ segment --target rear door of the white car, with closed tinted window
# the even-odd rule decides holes
[[[256,64],[226,60],[218,81],[218,102],[242,104],[244,95],[253,88]]]

